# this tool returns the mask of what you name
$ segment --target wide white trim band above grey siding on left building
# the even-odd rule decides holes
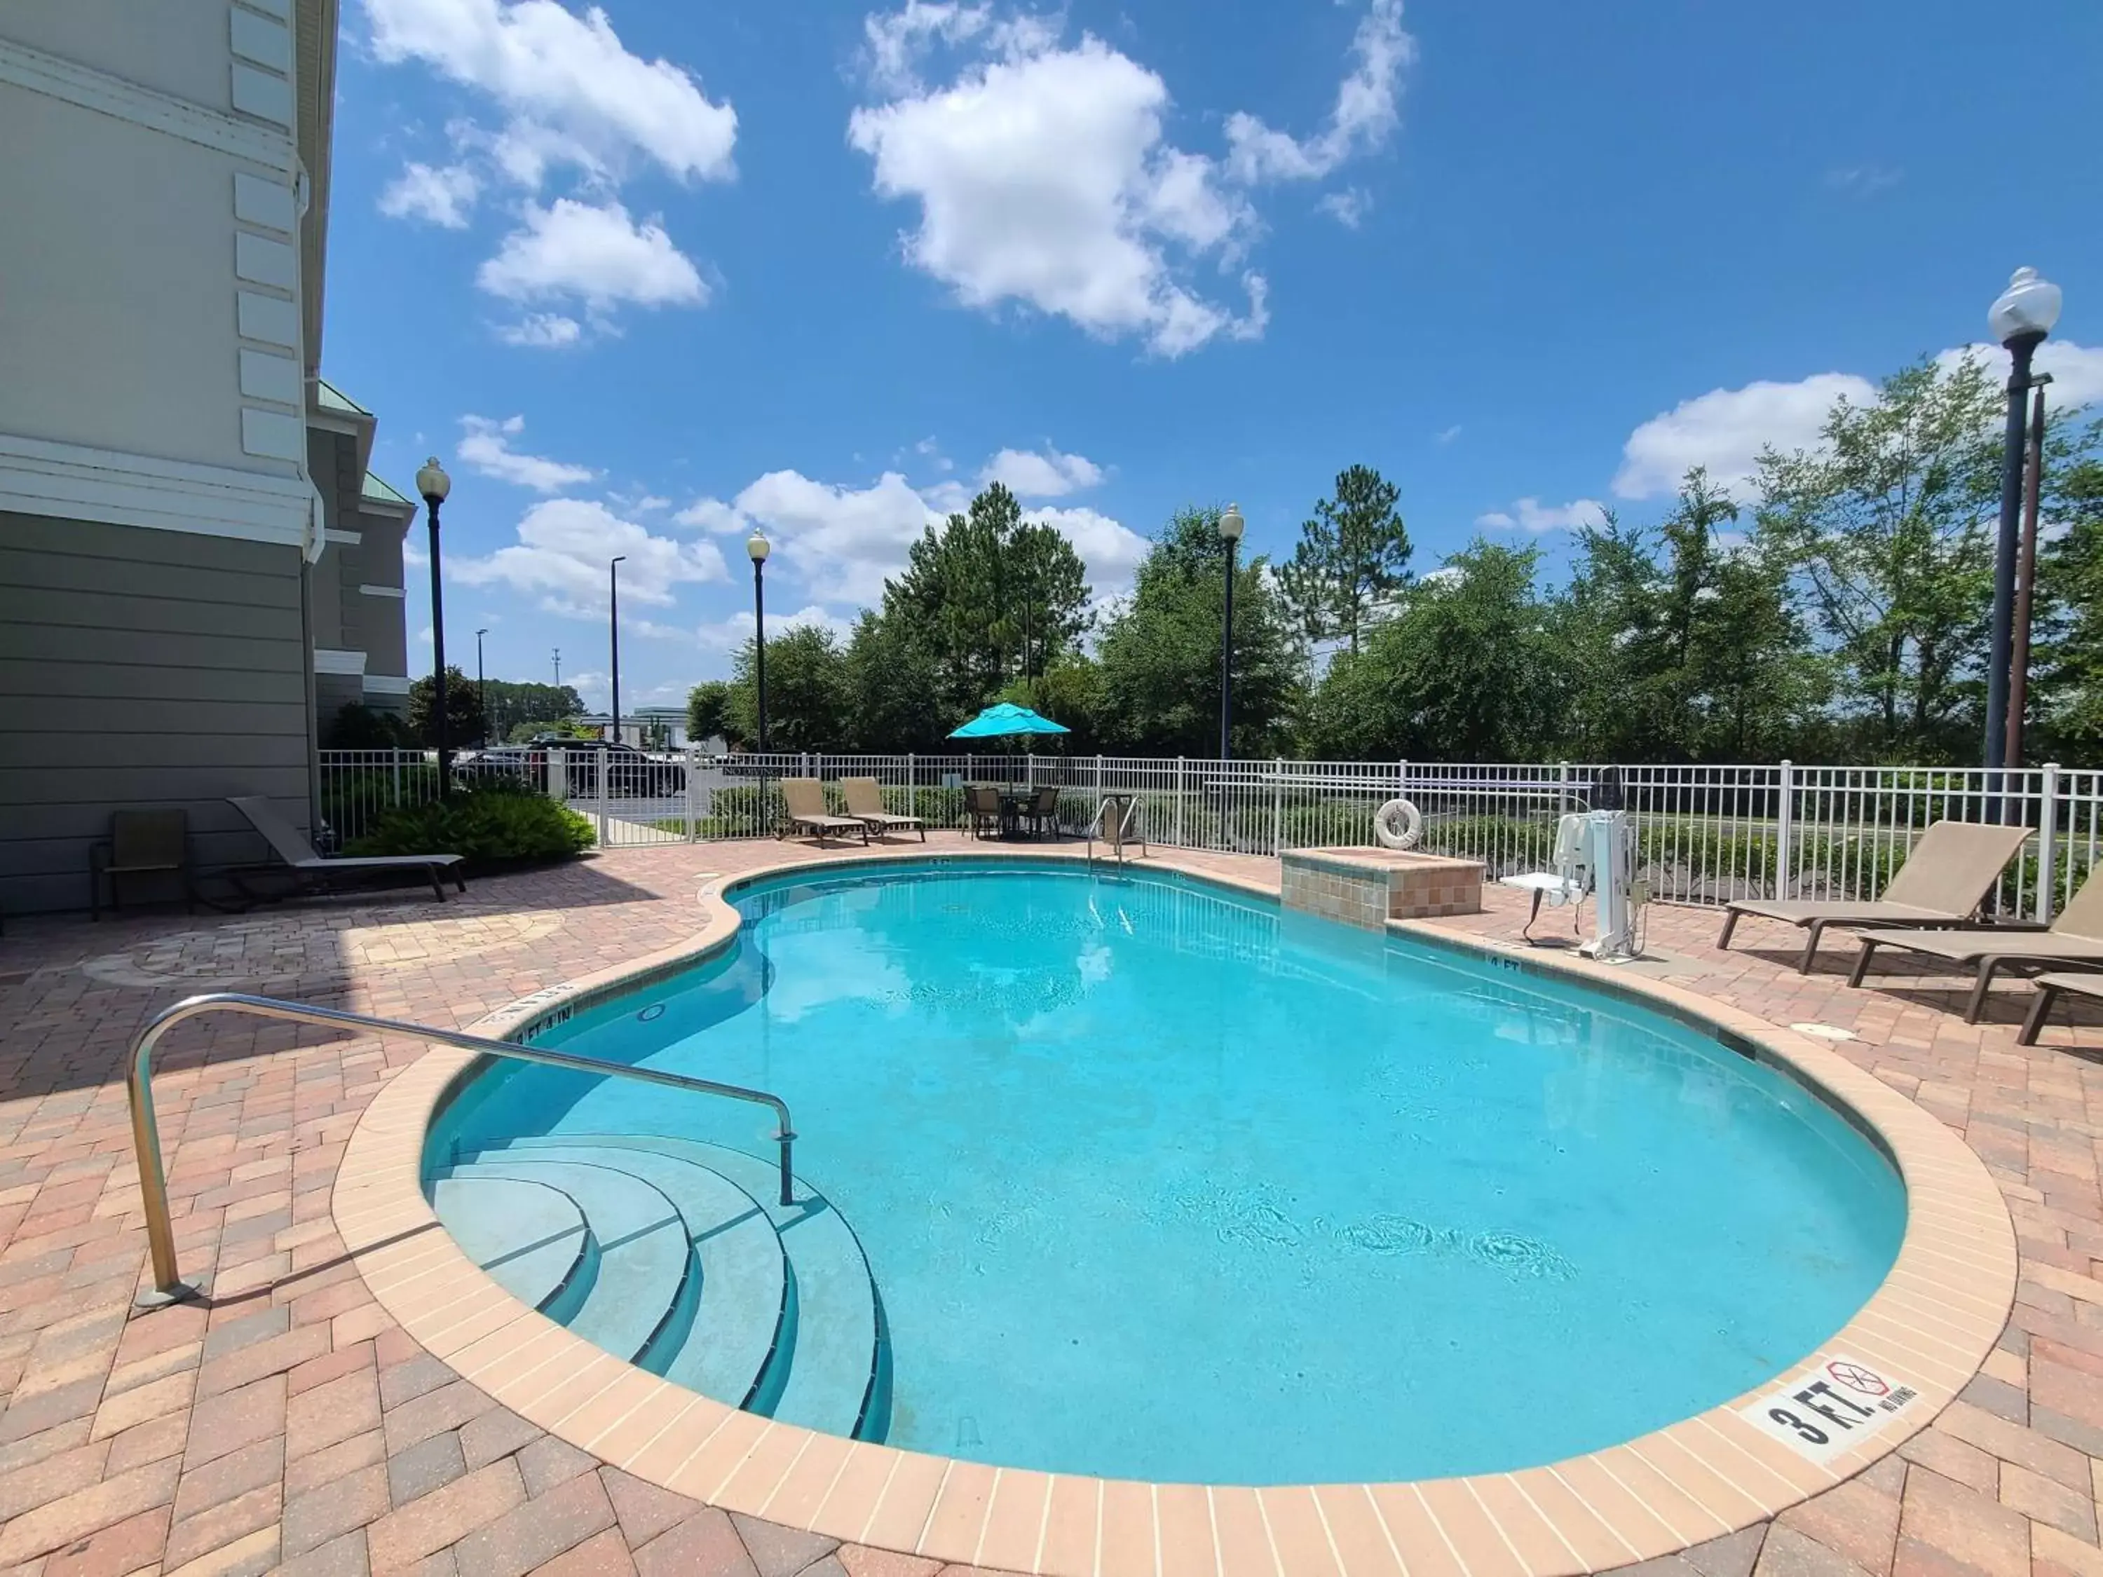
[[[0,433],[0,509],[305,547],[305,477],[118,454]]]

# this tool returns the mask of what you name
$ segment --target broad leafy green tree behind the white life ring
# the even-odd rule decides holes
[[[1344,759],[1518,761],[1558,713],[1539,549],[1476,538],[1409,589],[1359,652],[1338,652],[1308,709],[1308,742]]]

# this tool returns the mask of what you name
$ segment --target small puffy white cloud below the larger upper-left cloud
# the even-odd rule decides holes
[[[694,263],[654,219],[637,225],[618,202],[593,206],[557,198],[526,204],[526,225],[505,235],[475,284],[507,301],[574,296],[604,313],[637,307],[700,307],[709,301]]]

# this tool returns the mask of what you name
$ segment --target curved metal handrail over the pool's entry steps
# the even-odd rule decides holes
[[[248,997],[238,990],[215,990],[204,997],[185,997],[154,1018],[139,1039],[132,1041],[130,1060],[130,1108],[132,1108],[132,1150],[139,1159],[139,1194],[145,1203],[145,1241],[154,1253],[154,1291],[141,1293],[141,1306],[168,1304],[196,1295],[175,1274],[175,1224],[168,1220],[168,1173],[160,1159],[160,1125],[154,1121],[154,1047],[164,1030],[198,1013],[252,1013],[257,1018],[284,1018],[294,1024],[336,1024],[358,1030],[381,1030],[410,1035],[418,1041],[456,1045],[463,1051],[479,1051],[490,1058],[511,1058],[513,1062],[538,1062],[549,1068],[570,1068],[572,1072],[606,1074],[612,1079],[639,1079],[646,1085],[669,1085],[671,1089],[692,1089],[696,1095],[728,1095],[768,1106],[780,1121],[774,1142],[780,1146],[782,1205],[795,1205],[791,1188],[791,1146],[795,1129],[789,1123],[789,1102],[763,1089],[744,1085],[719,1085],[713,1079],[688,1079],[683,1072],[658,1072],[656,1068],[633,1068],[625,1062],[604,1062],[599,1058],[578,1058],[568,1051],[547,1051],[517,1041],[486,1041],[479,1035],[461,1035],[431,1024],[408,1024],[395,1018],[370,1018],[368,1013],[345,1013],[336,1007],[311,1007],[307,1003],[284,1003],[275,997]]]

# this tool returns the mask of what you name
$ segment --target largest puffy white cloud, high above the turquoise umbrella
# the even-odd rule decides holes
[[[875,189],[919,204],[906,259],[967,307],[1020,303],[1098,339],[1144,336],[1161,355],[1260,334],[1260,275],[1243,275],[1251,305],[1239,318],[1188,280],[1199,259],[1230,265],[1255,214],[1213,160],[1165,141],[1161,78],[1094,36],[1060,48],[1047,25],[959,15],[923,4],[871,19],[879,86],[898,97],[848,126]],[[1001,55],[919,90],[902,78],[906,55],[877,44],[885,27],[906,42],[984,34]]]

